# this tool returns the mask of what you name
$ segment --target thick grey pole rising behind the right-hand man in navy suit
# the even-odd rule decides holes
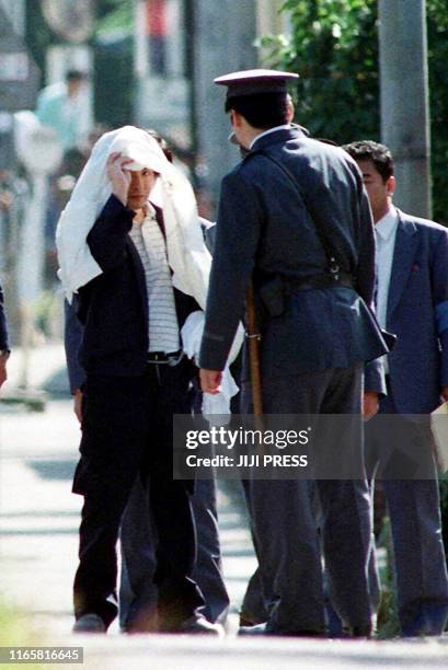
[[[399,207],[432,218],[426,0],[379,0],[381,137]]]

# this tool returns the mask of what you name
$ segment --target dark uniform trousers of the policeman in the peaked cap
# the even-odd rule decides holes
[[[265,414],[353,414],[349,435],[333,435],[334,450],[361,457],[363,366],[300,377],[264,379]],[[248,388],[243,407],[250,407]],[[365,477],[356,480],[250,482],[255,551],[265,593],[273,594],[267,627],[276,632],[325,629],[321,545],[331,601],[343,622],[368,628],[371,603],[368,563],[371,506]],[[312,496],[322,508],[318,536]]]

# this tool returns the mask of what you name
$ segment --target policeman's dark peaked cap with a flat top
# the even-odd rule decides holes
[[[215,79],[216,84],[227,86],[227,99],[257,93],[287,93],[287,82],[298,79],[294,72],[279,70],[241,70]]]

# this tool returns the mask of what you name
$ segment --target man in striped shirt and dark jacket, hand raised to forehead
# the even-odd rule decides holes
[[[180,328],[198,305],[172,285],[162,212],[148,206],[158,174],[128,171],[129,163],[120,153],[107,159],[112,195],[87,240],[102,272],[79,289],[87,381],[73,481],[84,496],[73,629],[105,632],[116,616],[120,520],[136,477],[148,475],[159,538],[159,629],[219,634],[200,614],[204,600],[191,577],[192,485],[173,480],[172,464],[172,417],[189,413],[194,376],[179,350]]]

